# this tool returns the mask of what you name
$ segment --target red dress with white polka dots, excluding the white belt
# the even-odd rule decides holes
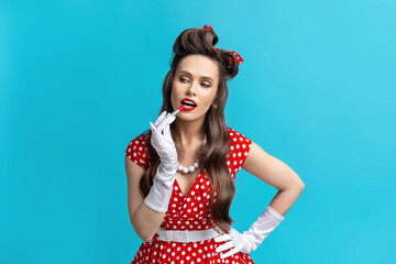
[[[227,155],[227,166],[231,173],[232,179],[241,169],[251,147],[251,140],[241,133],[228,129],[230,136],[230,151]],[[145,132],[132,140],[125,151],[125,155],[135,164],[146,169],[150,165],[147,145],[150,144],[148,134]],[[193,184],[191,190],[186,197],[175,179],[173,193],[169,200],[168,210],[165,213],[161,227],[166,230],[207,230],[211,229],[206,219],[206,211],[210,199],[210,183],[207,178],[207,172],[198,174]],[[215,191],[213,201],[216,202],[217,193]],[[212,207],[211,207],[212,209]],[[211,211],[209,220],[213,222]],[[220,234],[219,234],[220,235]],[[198,242],[169,242],[157,240],[156,233],[150,242],[143,242],[138,250],[131,264],[145,263],[185,263],[185,264],[216,264],[216,263],[253,263],[251,256],[245,253],[235,253],[229,257],[221,258],[216,249],[223,242],[215,242],[215,238]],[[222,254],[227,253],[222,252]]]

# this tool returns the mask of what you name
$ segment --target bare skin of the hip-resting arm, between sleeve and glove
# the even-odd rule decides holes
[[[305,188],[302,180],[289,166],[254,142],[242,168],[279,190],[270,206],[282,216],[286,215]]]

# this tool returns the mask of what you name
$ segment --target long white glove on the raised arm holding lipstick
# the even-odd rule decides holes
[[[177,172],[177,151],[172,139],[169,124],[176,119],[163,111],[157,120],[150,122],[152,130],[151,144],[157,152],[161,163],[157,167],[153,186],[144,199],[144,204],[157,212],[166,212]],[[163,121],[164,120],[164,121]],[[163,122],[162,122],[163,121]],[[157,128],[157,125],[160,127]]]

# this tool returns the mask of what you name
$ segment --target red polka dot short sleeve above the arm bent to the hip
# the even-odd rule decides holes
[[[234,179],[235,174],[242,168],[246,161],[252,141],[243,134],[229,128],[230,151],[227,158],[227,165],[230,169],[231,176]]]

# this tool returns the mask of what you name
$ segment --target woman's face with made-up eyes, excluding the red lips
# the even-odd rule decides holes
[[[177,66],[172,86],[173,109],[178,109],[183,99],[191,99],[196,108],[183,110],[177,118],[193,121],[205,118],[218,90],[219,69],[216,62],[202,55],[188,55]]]

